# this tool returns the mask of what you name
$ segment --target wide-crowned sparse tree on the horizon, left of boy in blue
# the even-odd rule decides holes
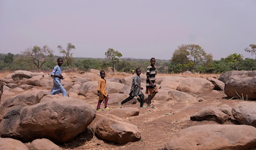
[[[39,46],[34,46],[33,48],[27,48],[25,51],[21,52],[23,54],[21,59],[25,59],[26,61],[36,65],[38,71],[41,71],[42,65],[47,61],[45,59],[46,56],[52,57],[53,51],[47,45],[44,45],[43,48]]]

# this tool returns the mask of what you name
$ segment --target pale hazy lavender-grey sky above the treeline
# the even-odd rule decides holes
[[[74,57],[170,59],[181,44],[213,59],[256,44],[256,0],[0,0],[0,53],[76,46]]]

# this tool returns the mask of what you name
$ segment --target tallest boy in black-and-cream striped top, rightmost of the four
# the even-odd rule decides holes
[[[155,76],[157,74],[155,63],[156,59],[150,59],[151,65],[147,68],[147,79],[146,79],[146,94],[148,94],[148,106],[150,108],[154,108],[154,105],[151,103],[151,100],[158,92],[156,84],[155,84]]]

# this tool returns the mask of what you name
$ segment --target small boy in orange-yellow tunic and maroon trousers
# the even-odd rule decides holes
[[[98,88],[97,88],[97,91],[98,91],[98,96],[99,96],[99,102],[98,102],[98,105],[97,105],[97,108],[96,110],[97,111],[102,111],[100,109],[100,104],[102,103],[102,101],[105,99],[105,108],[104,110],[110,110],[110,108],[108,108],[108,93],[106,91],[106,80],[104,79],[105,78],[105,71],[100,71],[100,76],[101,78],[99,79],[99,84],[98,84]]]

